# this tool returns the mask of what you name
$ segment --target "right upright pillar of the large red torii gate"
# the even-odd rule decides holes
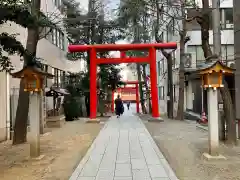
[[[159,117],[160,114],[158,109],[156,49],[153,47],[149,49],[149,59],[150,59],[152,117]]]

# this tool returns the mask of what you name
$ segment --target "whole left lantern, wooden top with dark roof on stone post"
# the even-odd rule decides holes
[[[15,78],[24,80],[24,91],[29,93],[29,119],[30,119],[30,156],[35,158],[40,155],[40,118],[41,118],[41,92],[44,78],[53,75],[43,72],[35,66],[26,66],[22,70],[11,74]]]

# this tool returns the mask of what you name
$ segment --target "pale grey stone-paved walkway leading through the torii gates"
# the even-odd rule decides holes
[[[109,119],[69,180],[178,178],[143,123],[125,110],[121,118]]]

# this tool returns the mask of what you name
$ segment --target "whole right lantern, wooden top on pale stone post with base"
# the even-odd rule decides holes
[[[204,153],[206,159],[225,159],[219,154],[219,110],[218,90],[223,88],[223,76],[233,74],[233,69],[225,66],[220,61],[215,61],[207,68],[200,69],[202,86],[207,90],[208,98],[208,153]]]

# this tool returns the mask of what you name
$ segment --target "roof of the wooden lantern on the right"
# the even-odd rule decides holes
[[[219,60],[201,63],[196,68],[185,68],[185,74],[208,74],[213,72],[233,74],[234,71],[234,68],[226,66]]]

